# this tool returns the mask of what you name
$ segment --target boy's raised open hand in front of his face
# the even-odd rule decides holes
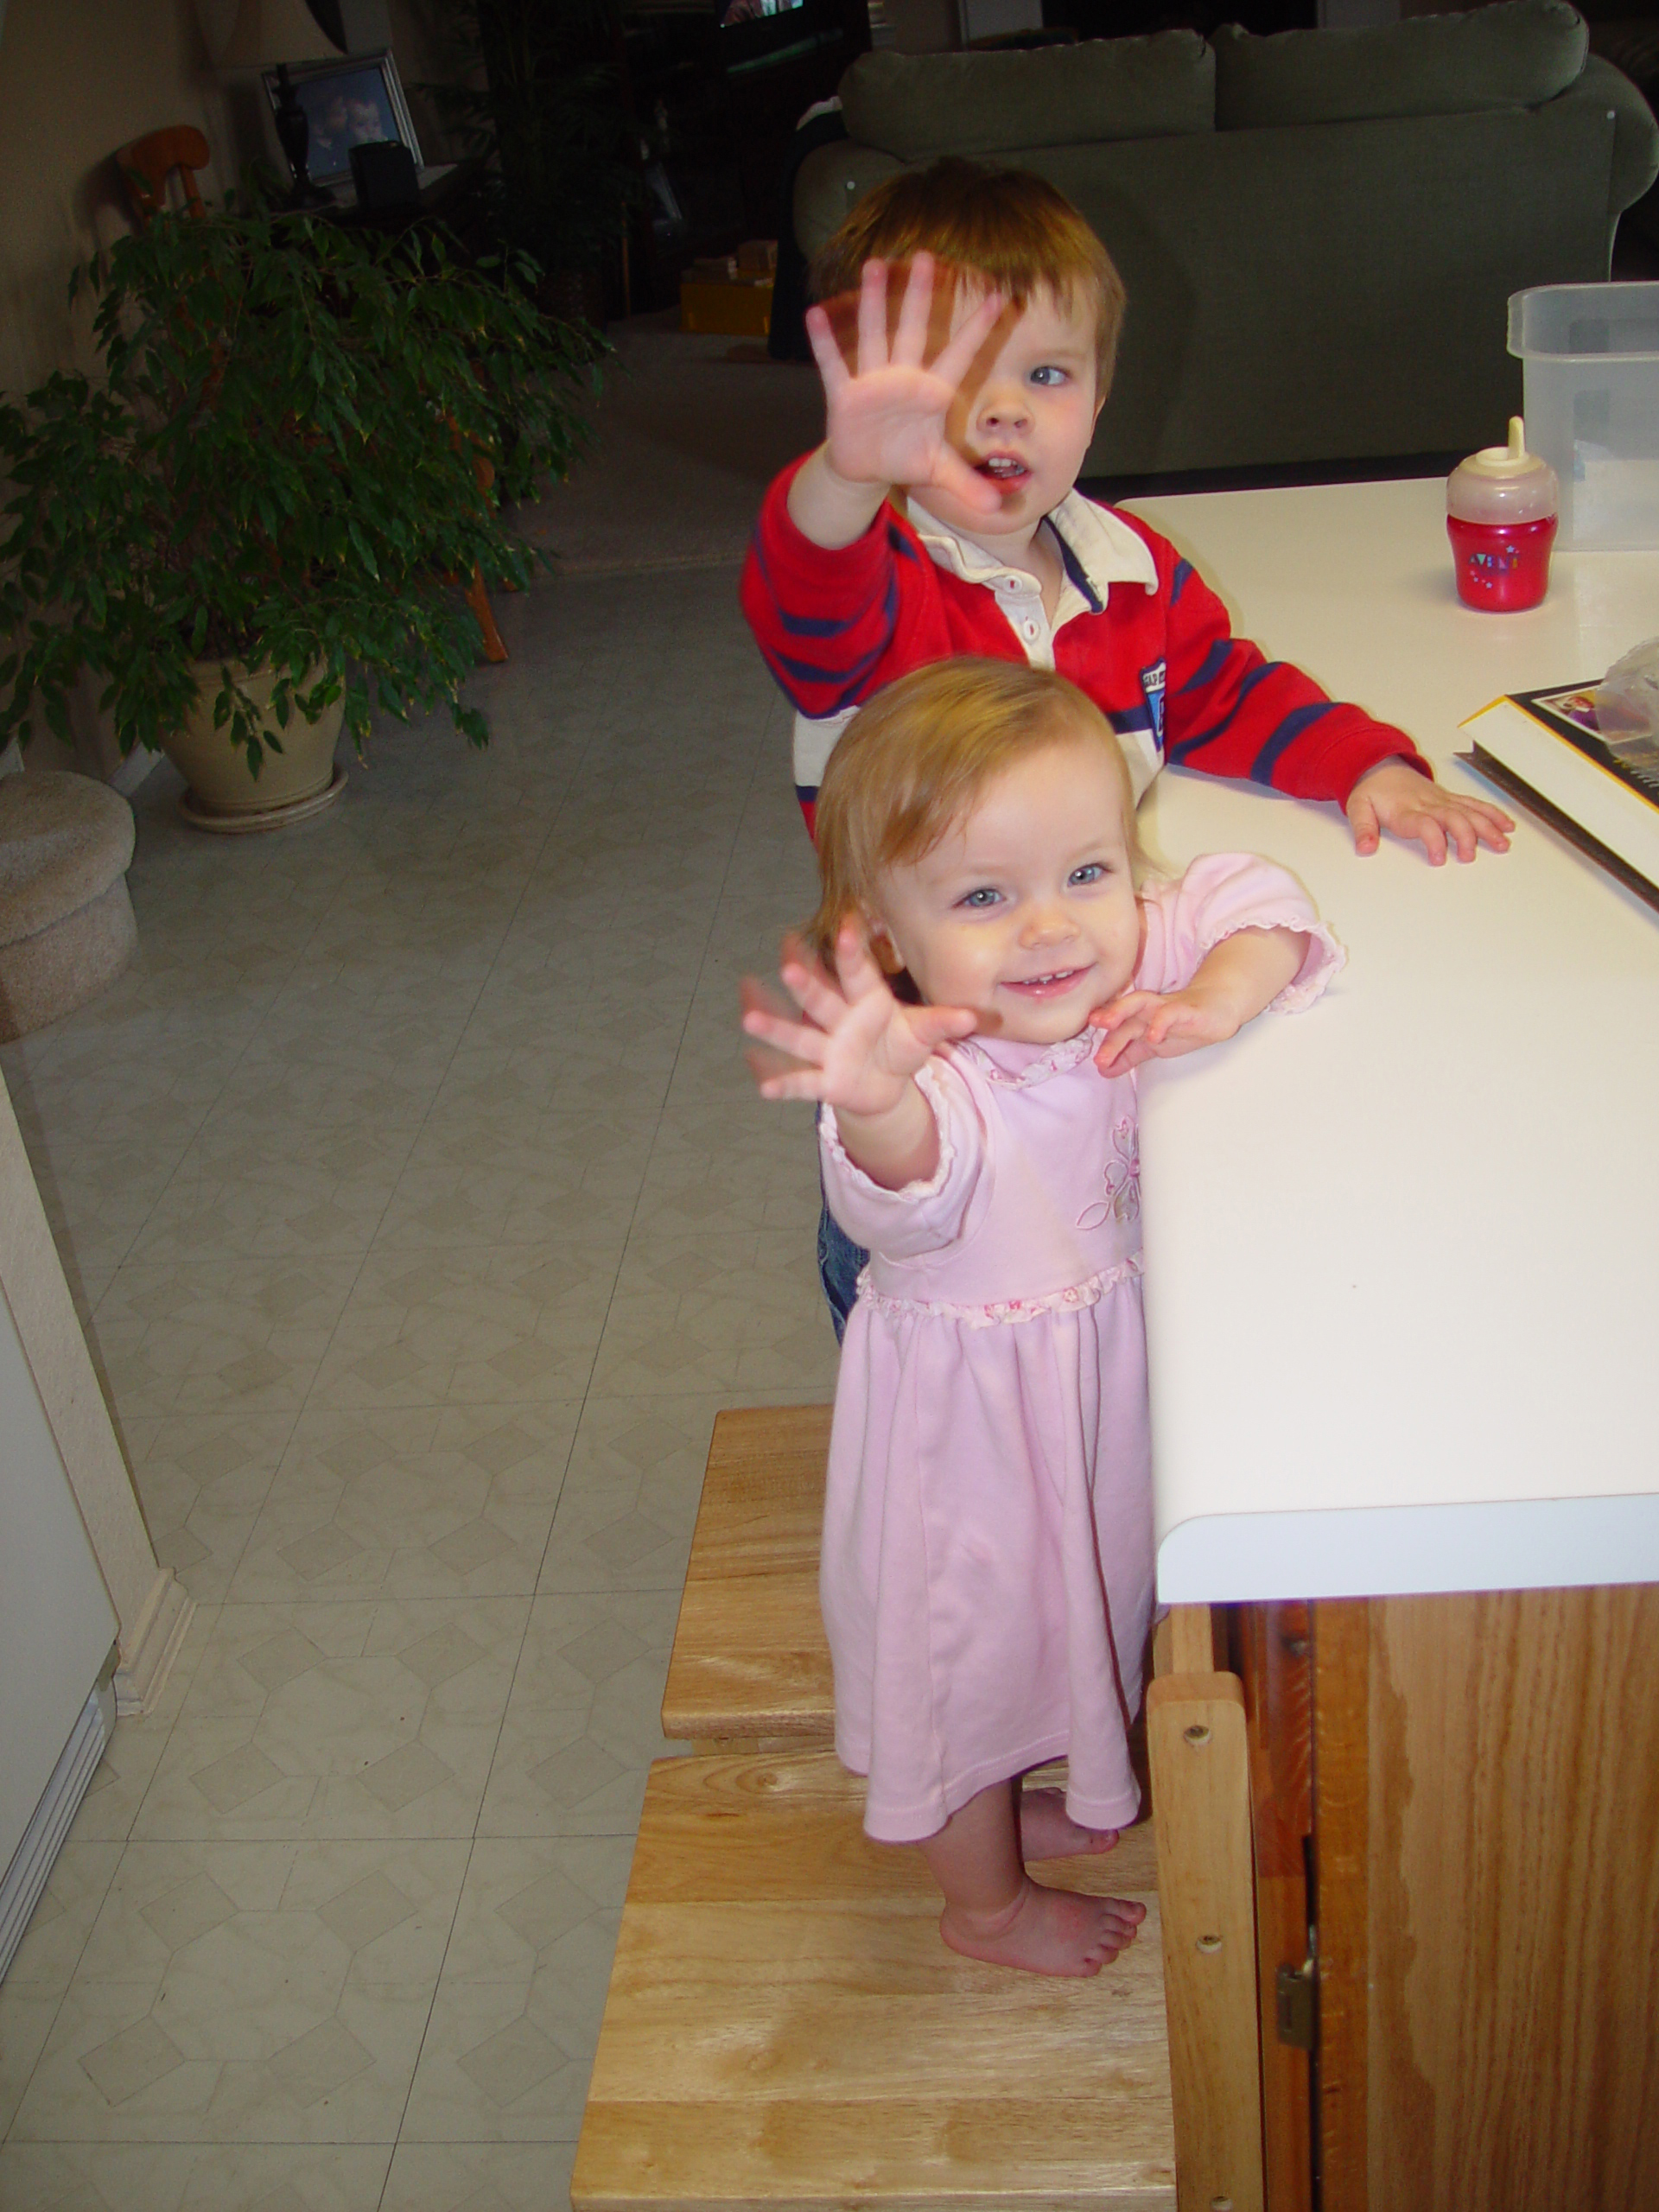
[[[865,261],[858,285],[858,343],[849,369],[823,307],[807,310],[807,338],[823,376],[823,458],[845,484],[938,484],[964,507],[993,515],[1000,493],[962,460],[947,436],[958,387],[1006,301],[987,292],[938,361],[927,365],[933,257],[916,254],[887,343],[887,263]]]

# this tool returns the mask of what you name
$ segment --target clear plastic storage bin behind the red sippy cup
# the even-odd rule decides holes
[[[1546,283],[1509,301],[1526,445],[1562,480],[1557,546],[1659,546],[1659,283]]]

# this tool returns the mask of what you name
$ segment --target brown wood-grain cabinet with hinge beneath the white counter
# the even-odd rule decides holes
[[[1659,1588],[1223,1624],[1270,2212],[1659,2205]],[[1301,2051],[1276,1984],[1310,1955]]]

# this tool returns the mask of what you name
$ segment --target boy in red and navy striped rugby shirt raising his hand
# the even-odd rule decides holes
[[[938,301],[936,259],[953,272]],[[909,261],[891,334],[887,261]],[[960,159],[889,177],[814,285],[858,288],[856,358],[812,307],[825,442],[768,491],[743,575],[743,611],[796,708],[807,827],[852,712],[911,668],[975,653],[1071,677],[1117,730],[1137,799],[1177,761],[1334,799],[1358,852],[1383,830],[1436,865],[1506,849],[1506,814],[1442,790],[1402,730],[1232,637],[1168,540],[1077,491],[1124,288],[1051,184]],[[938,349],[929,327],[938,338],[947,319]]]

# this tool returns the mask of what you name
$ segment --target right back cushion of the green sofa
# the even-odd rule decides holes
[[[1467,15],[1270,38],[1230,22],[1212,42],[1221,131],[1533,108],[1573,84],[1588,44],[1566,0],[1498,0]]]

